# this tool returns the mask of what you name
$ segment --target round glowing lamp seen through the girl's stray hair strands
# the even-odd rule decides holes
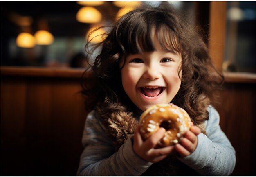
[[[99,29],[97,28],[98,27],[92,27],[89,29],[88,33],[86,34],[86,39],[88,39],[88,42],[99,43],[106,38],[106,34],[103,28],[99,28]],[[94,31],[95,29],[97,30]],[[88,35],[90,35],[89,38],[88,38]]]

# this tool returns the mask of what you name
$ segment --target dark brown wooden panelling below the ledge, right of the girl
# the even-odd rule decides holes
[[[220,126],[236,150],[232,175],[255,175],[255,83],[226,83],[220,92]]]

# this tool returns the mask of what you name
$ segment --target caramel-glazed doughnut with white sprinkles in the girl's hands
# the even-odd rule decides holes
[[[164,138],[157,144],[159,147],[166,147],[177,144],[184,133],[190,129],[192,122],[184,109],[170,103],[149,107],[141,114],[139,124],[144,140],[160,127],[166,129]]]

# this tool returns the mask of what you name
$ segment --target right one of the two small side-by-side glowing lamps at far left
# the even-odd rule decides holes
[[[35,33],[36,44],[50,45],[54,42],[54,36],[45,30],[39,30]]]

